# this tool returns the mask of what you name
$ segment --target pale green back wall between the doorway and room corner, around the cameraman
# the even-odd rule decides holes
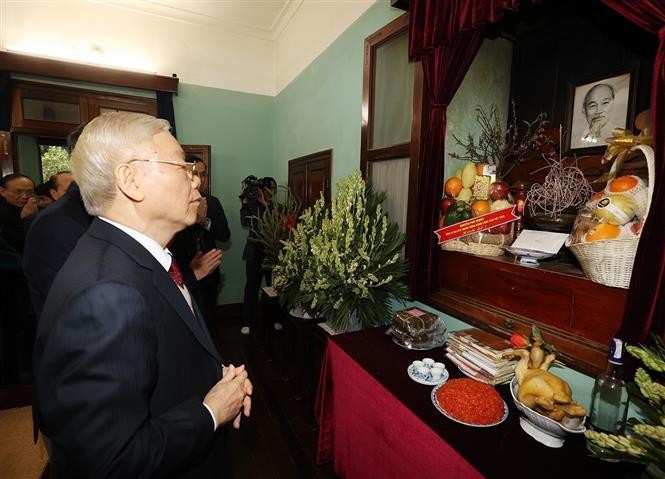
[[[211,145],[211,189],[229,221],[231,239],[222,245],[220,304],[241,303],[245,287],[240,226],[241,182],[248,175],[275,176],[272,163],[274,99],[181,83],[173,99],[178,141]],[[286,178],[276,177],[286,183]]]

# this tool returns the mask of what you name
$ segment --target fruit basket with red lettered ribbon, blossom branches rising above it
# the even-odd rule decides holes
[[[515,102],[512,103],[511,121],[502,126],[496,105],[489,112],[476,107],[476,120],[480,127],[478,139],[468,135],[467,141],[453,138],[464,149],[460,154],[449,155],[458,160],[468,160],[464,167],[448,178],[444,197],[439,205],[439,228],[507,208],[513,204],[510,186],[504,181],[493,181],[507,175],[530,153],[541,151],[551,142],[545,133],[546,115],[541,113],[533,122],[523,122],[525,131],[518,134]],[[482,256],[499,256],[504,246],[513,241],[512,223],[504,223],[485,231],[446,241],[441,248]]]

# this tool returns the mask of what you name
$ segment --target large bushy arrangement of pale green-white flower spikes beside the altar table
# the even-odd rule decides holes
[[[320,198],[305,211],[273,270],[286,307],[323,317],[337,331],[390,323],[392,300],[407,297],[405,237],[384,200],[356,170],[337,184],[330,207]]]

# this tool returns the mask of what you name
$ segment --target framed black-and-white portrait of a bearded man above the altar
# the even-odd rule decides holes
[[[568,84],[568,153],[597,153],[607,147],[614,128],[631,129],[635,113],[636,70]]]

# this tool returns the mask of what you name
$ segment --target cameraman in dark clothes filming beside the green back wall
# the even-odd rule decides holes
[[[240,208],[240,224],[249,228],[249,236],[245,243],[242,259],[245,260],[245,297],[242,303],[242,334],[249,334],[250,327],[256,326],[258,313],[259,290],[261,289],[261,278],[265,275],[266,285],[270,285],[270,275],[263,270],[263,246],[257,241],[256,219],[260,217],[266,208],[270,208],[272,197],[277,191],[277,182],[272,177],[257,179],[248,176],[243,181],[243,191],[240,195],[242,207]]]

